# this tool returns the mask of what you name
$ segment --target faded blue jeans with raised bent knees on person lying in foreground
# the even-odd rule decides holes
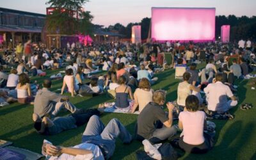
[[[104,158],[109,159],[115,151],[115,140],[117,137],[123,143],[130,143],[132,140],[131,134],[118,119],[113,118],[105,127],[99,116],[93,115],[84,130],[82,143],[97,145]]]

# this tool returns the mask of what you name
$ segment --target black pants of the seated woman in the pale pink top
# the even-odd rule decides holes
[[[179,147],[186,152],[193,154],[204,154],[210,150],[214,145],[213,136],[204,132],[204,143],[201,145],[189,145],[183,141],[183,136],[179,139]]]

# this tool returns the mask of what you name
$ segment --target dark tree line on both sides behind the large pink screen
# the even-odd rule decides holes
[[[230,25],[230,40],[244,40],[250,38],[251,40],[256,39],[256,16],[253,17],[236,17],[236,15],[218,15],[215,17],[215,37],[216,39],[221,35],[221,26]],[[147,39],[148,31],[150,28],[150,18],[146,17],[141,22],[129,23],[127,26],[123,26],[120,23],[110,25],[108,28],[104,28],[105,31],[118,31],[124,38],[131,38],[131,28],[134,25],[141,25],[141,38]]]

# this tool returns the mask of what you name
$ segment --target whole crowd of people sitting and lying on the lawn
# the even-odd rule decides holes
[[[172,55],[169,65],[165,52]],[[104,112],[104,104],[98,109],[79,109],[68,96],[97,96],[104,92],[115,99],[116,108],[139,112],[135,139],[143,141],[145,148],[170,140],[173,147],[186,152],[205,153],[214,146],[214,131],[207,131],[207,114],[226,113],[237,106],[234,83],[253,77],[250,72],[255,71],[255,60],[255,47],[250,40],[238,44],[111,42],[79,48],[67,45],[64,49],[45,49],[29,40],[1,56],[0,96],[1,102],[7,104],[34,106],[31,116],[38,134],[58,134],[87,123],[82,142],[75,147],[59,147],[45,140],[42,153],[51,159],[109,159],[117,137],[131,143],[131,134],[118,119],[113,118],[106,127],[102,124],[99,116]],[[198,70],[197,65],[203,61],[206,65]],[[152,85],[161,83],[157,73],[168,67],[184,68],[175,102],[166,102],[166,91],[152,89]],[[58,69],[65,72],[60,94],[51,91],[52,79],[48,77],[42,87],[30,80]],[[106,74],[91,75],[101,69]],[[165,104],[167,112],[163,109]],[[57,116],[61,109],[72,114]],[[176,119],[177,125],[173,123]],[[177,135],[180,136],[174,138]]]

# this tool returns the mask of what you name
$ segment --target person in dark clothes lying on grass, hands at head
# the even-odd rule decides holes
[[[68,129],[74,129],[77,126],[83,125],[92,115],[100,115],[104,112],[104,106],[99,106],[98,109],[79,109],[76,113],[68,116],[58,116],[52,120],[44,116],[40,118],[36,113],[33,113],[34,128],[39,134],[52,135],[58,134]]]

